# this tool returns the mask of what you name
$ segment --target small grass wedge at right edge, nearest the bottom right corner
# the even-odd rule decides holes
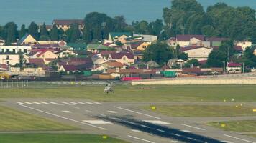
[[[224,127],[221,125],[224,124]],[[231,121],[209,123],[213,127],[233,132],[256,132],[256,120],[253,121]],[[256,137],[256,136],[255,136]]]

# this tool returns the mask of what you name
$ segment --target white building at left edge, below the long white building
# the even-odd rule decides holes
[[[0,53],[0,64],[8,64],[14,66],[19,64],[20,55],[12,52]]]

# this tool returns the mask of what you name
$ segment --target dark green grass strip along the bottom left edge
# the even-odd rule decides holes
[[[3,143],[127,143],[90,134],[0,134]]]

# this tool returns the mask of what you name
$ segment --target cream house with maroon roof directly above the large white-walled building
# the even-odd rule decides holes
[[[179,44],[180,47],[200,45],[201,41],[205,41],[204,35],[177,35],[176,45]]]

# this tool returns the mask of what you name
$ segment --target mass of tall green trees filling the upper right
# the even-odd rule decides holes
[[[170,9],[163,9],[163,19],[168,37],[204,34],[256,42],[255,9],[249,7],[234,8],[217,3],[204,11],[196,0],[173,0]]]

